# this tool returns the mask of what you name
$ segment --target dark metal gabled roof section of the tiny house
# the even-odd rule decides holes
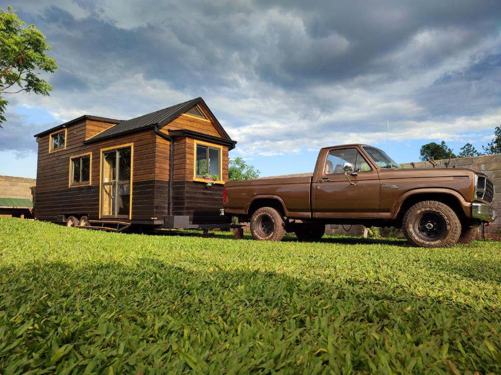
[[[138,131],[141,129],[145,129],[153,126],[162,126],[166,123],[169,123],[176,117],[178,117],[181,113],[186,112],[191,107],[196,104],[200,104],[204,107],[204,109],[210,114],[210,116],[214,119],[215,125],[217,129],[221,132],[221,134],[226,139],[231,139],[229,135],[224,131],[223,127],[217,121],[215,116],[212,114],[210,109],[207,107],[207,104],[203,101],[201,97],[197,97],[188,101],[184,101],[179,104],[172,105],[167,108],[163,108],[157,110],[155,112],[151,112],[148,114],[143,114],[142,116],[131,118],[130,120],[124,120],[116,125],[100,132],[99,134],[94,135],[93,137],[87,139],[84,143],[94,142],[96,140],[105,139],[115,137],[121,134],[127,134],[134,131]]]

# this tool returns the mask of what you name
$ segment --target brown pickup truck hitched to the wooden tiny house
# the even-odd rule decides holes
[[[320,150],[315,171],[301,177],[228,182],[224,211],[250,220],[256,239],[320,239],[326,224],[402,227],[424,247],[469,243],[482,222],[493,221],[493,185],[466,168],[402,168],[365,144]]]

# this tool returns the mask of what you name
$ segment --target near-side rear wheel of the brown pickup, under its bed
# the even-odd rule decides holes
[[[250,217],[250,233],[254,239],[280,241],[285,234],[282,214],[273,207],[261,207]]]

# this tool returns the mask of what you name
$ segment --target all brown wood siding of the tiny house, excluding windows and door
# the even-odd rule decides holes
[[[134,143],[132,219],[163,219],[168,214],[170,141],[155,134],[152,128],[136,133],[104,139],[89,144],[83,141],[112,124],[82,120],[67,130],[66,149],[49,153],[49,136],[39,138],[36,217],[55,220],[61,214],[99,216],[100,150]],[[168,129],[188,129],[222,137],[210,121],[181,115],[165,125]],[[220,222],[222,184],[207,187],[193,181],[194,142],[189,137],[174,141],[173,214],[189,215],[194,223]],[[92,153],[91,185],[68,188],[70,156]],[[228,147],[222,146],[222,179],[228,180]]]

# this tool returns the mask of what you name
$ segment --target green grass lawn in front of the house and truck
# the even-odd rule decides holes
[[[500,249],[0,218],[0,373],[501,373]]]

